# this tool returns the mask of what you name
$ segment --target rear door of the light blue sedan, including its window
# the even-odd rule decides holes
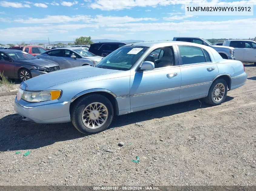
[[[218,74],[212,54],[195,46],[177,47],[181,57],[180,102],[205,97],[211,81]]]

